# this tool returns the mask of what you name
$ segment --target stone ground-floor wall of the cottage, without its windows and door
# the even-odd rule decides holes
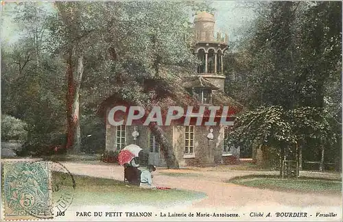
[[[137,125],[137,131],[139,137],[134,140],[132,132],[134,126],[126,126],[126,145],[136,144],[143,149],[143,153],[148,155],[149,150],[149,127],[143,125]],[[233,164],[233,160],[228,157],[222,156],[222,150],[224,145],[224,127],[212,127],[213,128],[213,141],[209,140],[206,136],[209,134],[210,127],[196,126],[194,128],[194,156],[184,156],[185,149],[185,126],[174,125],[162,127],[165,136],[169,142],[173,145],[176,159],[178,160],[180,167],[187,166],[213,166],[214,164]],[[106,151],[115,150],[115,136],[116,127],[110,124],[106,125]],[[163,151],[160,150],[160,164],[159,167],[166,167]]]

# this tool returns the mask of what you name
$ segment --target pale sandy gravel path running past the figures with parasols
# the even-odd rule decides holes
[[[78,175],[88,175],[93,177],[104,177],[115,180],[123,180],[123,167],[117,165],[95,165],[81,164],[73,162],[63,162],[65,167],[71,173]],[[192,173],[189,177],[174,177],[164,175],[165,173]],[[259,204],[274,204],[275,206],[342,206],[342,197],[333,194],[312,194],[312,193],[293,193],[281,192],[276,190],[261,190],[246,186],[225,183],[232,177],[250,174],[277,174],[273,171],[211,171],[211,169],[202,170],[171,170],[158,169],[154,172],[154,184],[159,186],[169,186],[180,189],[195,190],[206,193],[206,199],[196,201],[193,207],[199,208],[219,208],[224,206],[259,206]],[[198,175],[196,175],[198,174]],[[333,173],[304,173],[312,174],[316,177],[339,177]],[[301,174],[300,174],[301,175]]]

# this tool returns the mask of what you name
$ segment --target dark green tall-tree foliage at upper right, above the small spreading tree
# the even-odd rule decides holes
[[[239,50],[225,58],[228,93],[249,108],[324,107],[325,96],[340,107],[341,11],[340,2],[261,4]]]

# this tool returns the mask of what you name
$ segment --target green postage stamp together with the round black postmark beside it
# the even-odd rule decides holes
[[[60,162],[4,162],[4,219],[39,220],[64,216],[73,202],[75,187],[73,175]]]

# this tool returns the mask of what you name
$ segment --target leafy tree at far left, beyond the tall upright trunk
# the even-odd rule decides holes
[[[41,23],[48,15],[47,10],[38,3],[25,4],[13,7],[16,9],[12,16],[14,23],[19,24],[19,42],[5,42],[2,48],[1,104],[4,113],[25,121],[24,149],[27,154],[39,155],[63,132],[61,92],[65,85],[60,69],[62,62],[45,50],[47,36],[42,33],[47,29]],[[36,38],[38,31],[40,36]]]

